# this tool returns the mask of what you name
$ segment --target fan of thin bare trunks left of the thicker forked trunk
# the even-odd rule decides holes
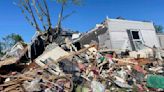
[[[50,13],[46,0],[19,0],[17,6],[21,9],[25,19],[36,31],[41,32],[41,27],[37,21],[40,20],[44,30],[51,28]]]

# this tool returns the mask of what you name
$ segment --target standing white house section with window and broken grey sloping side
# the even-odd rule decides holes
[[[82,44],[92,41],[100,48],[114,50],[141,50],[147,47],[160,47],[152,22],[131,21],[107,18],[102,24],[80,38]]]

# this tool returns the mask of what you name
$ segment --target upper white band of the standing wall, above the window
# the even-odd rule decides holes
[[[125,31],[127,29],[155,31],[153,22],[107,18],[106,23],[108,25],[109,30],[112,31]]]

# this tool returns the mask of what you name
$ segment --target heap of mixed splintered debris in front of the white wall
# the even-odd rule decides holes
[[[2,92],[164,91],[163,61],[142,57],[144,52],[119,55],[100,50],[96,43],[78,50],[65,39],[65,44],[48,44],[37,58],[22,63],[28,60],[24,59],[29,55],[27,48],[17,57],[12,54],[0,61]]]

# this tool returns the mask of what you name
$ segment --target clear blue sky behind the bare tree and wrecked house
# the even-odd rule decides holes
[[[20,34],[30,42],[35,33],[24,18],[20,9],[13,4],[18,0],[0,0],[0,38],[8,34]],[[56,25],[60,5],[47,0],[51,21]],[[101,23],[106,16],[122,16],[128,20],[152,21],[164,26],[164,0],[83,0],[81,6],[67,5],[64,15],[75,11],[63,21],[62,27],[74,31],[86,32]]]

